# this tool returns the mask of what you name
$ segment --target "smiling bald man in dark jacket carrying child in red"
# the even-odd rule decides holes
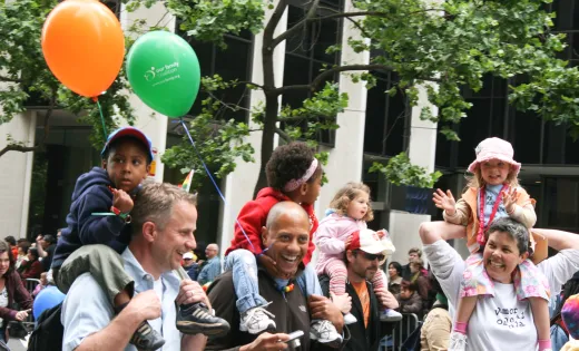
[[[303,273],[302,259],[310,242],[310,218],[302,206],[294,202],[274,205],[267,215],[266,226],[262,228],[262,241],[265,247],[269,247],[264,254],[273,259],[276,265],[274,271],[268,271],[258,264],[259,295],[269,301],[267,311],[275,315],[278,333],[255,335],[239,330],[233,273],[227,271],[212,283],[208,296],[215,315],[229,321],[230,330],[224,338],[210,339],[205,350],[294,350],[284,341],[288,339],[288,333],[298,330],[304,332],[300,338],[301,350],[332,350],[327,344],[310,340],[311,318],[330,321],[338,333],[346,334],[344,340],[350,340],[342,312],[330,299],[312,295],[308,302],[295,281]]]

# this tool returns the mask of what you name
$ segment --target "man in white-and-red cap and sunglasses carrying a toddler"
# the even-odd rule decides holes
[[[347,325],[352,337],[344,350],[379,350],[380,340],[394,328],[394,323],[380,321],[380,310],[381,304],[396,309],[396,299],[385,286],[374,291],[371,283],[375,274],[382,274],[380,263],[384,261],[385,252],[384,243],[373,231],[352,234],[344,261],[347,269],[346,293],[352,298],[350,313],[357,322]],[[320,284],[327,296],[330,277],[321,275]]]

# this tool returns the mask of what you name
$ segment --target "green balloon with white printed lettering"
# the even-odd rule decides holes
[[[195,103],[202,75],[197,55],[187,41],[168,31],[150,31],[130,48],[127,76],[143,103],[177,118]]]

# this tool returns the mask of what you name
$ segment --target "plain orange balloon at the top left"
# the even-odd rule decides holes
[[[42,52],[52,74],[70,90],[96,97],[107,90],[122,65],[120,23],[97,0],[66,0],[42,28]]]

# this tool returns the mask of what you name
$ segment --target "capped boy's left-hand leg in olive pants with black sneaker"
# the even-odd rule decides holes
[[[57,270],[57,285],[67,293],[80,274],[90,273],[105,290],[115,311],[120,312],[135,294],[135,282],[125,273],[122,257],[106,245],[85,245],[67,257]],[[130,343],[140,350],[157,350],[165,344],[163,337],[147,321],[137,328]]]

